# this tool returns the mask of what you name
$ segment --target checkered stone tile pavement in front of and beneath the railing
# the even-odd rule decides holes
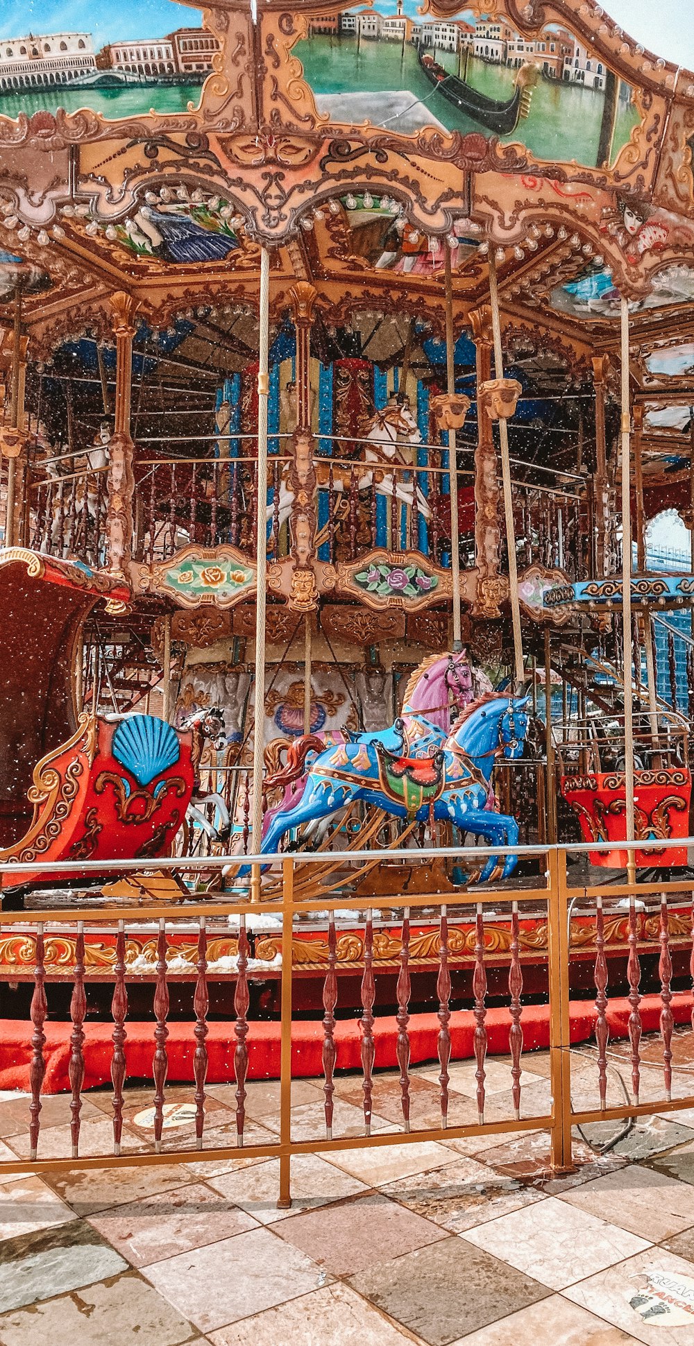
[[[547,1058],[526,1065],[526,1114],[539,1114]],[[437,1075],[412,1071],[414,1127],[437,1120]],[[679,1070],[675,1094],[690,1079]],[[488,1089],[492,1120],[508,1116],[507,1059],[488,1062]],[[574,1094],[594,1089],[594,1058],[577,1055]],[[473,1063],[451,1066],[451,1123],[473,1120]],[[190,1097],[167,1093],[170,1145],[190,1144]],[[322,1098],[296,1084],[295,1135],[319,1135]],[[336,1100],[336,1133],[358,1131],[360,1079],[338,1078]],[[276,1133],[278,1102],[276,1084],[248,1086],[249,1140]],[[151,1145],[150,1104],[128,1090],[124,1147]],[[210,1088],[210,1143],[233,1143],[234,1105],[233,1086]],[[373,1106],[375,1129],[398,1125],[392,1074]],[[85,1152],[109,1148],[109,1110],[108,1093],[85,1097]],[[39,1152],[69,1154],[67,1100],[46,1098],[42,1123]],[[0,1158],[27,1154],[24,1096],[0,1094]],[[641,1119],[604,1156],[577,1140],[575,1156],[574,1174],[550,1176],[542,1132],[307,1155],[288,1211],[267,1159],[13,1176],[0,1346],[694,1346],[694,1112]]]

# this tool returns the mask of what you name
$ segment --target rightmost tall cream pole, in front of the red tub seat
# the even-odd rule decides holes
[[[621,296],[621,643],[624,649],[624,791],[627,841],[635,837],[633,814],[633,701],[632,701],[632,528],[631,528],[631,417],[629,417],[629,306]],[[633,851],[627,856],[627,878],[636,883]]]

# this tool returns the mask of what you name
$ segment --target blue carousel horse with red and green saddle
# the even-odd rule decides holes
[[[429,756],[403,755],[407,754],[404,734],[395,751],[383,743],[383,735],[360,735],[361,742],[317,751],[296,802],[274,810],[263,836],[263,853],[276,853],[282,837],[292,828],[329,817],[357,800],[396,818],[424,822],[433,813],[461,832],[482,837],[489,847],[516,845],[516,820],[488,808],[489,779],[497,756],[513,760],[523,752],[527,701],[528,697],[488,692],[462,711],[445,746],[435,747]],[[314,746],[321,747],[318,740]],[[497,871],[497,863],[496,856],[488,859],[480,883]],[[516,863],[515,856],[505,857],[504,879]],[[240,878],[247,872],[248,867],[240,870]]]

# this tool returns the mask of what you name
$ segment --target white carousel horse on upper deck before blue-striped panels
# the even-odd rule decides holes
[[[402,402],[396,398],[391,398],[383,411],[375,412],[375,415],[364,423],[361,427],[361,437],[367,441],[361,448],[361,458],[354,463],[354,468],[358,470],[357,487],[360,491],[368,490],[372,486],[376,494],[392,497],[402,501],[410,509],[414,502],[415,485],[412,481],[407,482],[403,479],[403,474],[393,471],[395,467],[407,467],[410,472],[414,474],[412,458],[407,456],[407,450],[403,452],[403,447],[407,444],[420,444],[422,435],[419,433],[419,427],[410,409],[410,401],[406,397]],[[403,446],[403,447],[400,447]],[[315,475],[318,479],[318,486],[326,487],[330,485],[330,460],[317,459]],[[336,494],[346,494],[352,485],[352,467],[345,467],[344,464],[336,464],[332,474],[332,489]],[[360,470],[362,468],[362,470]],[[279,502],[271,501],[267,506],[267,521],[271,524],[276,521],[278,526],[282,528],[283,524],[291,516],[291,507],[294,503],[294,491],[290,489],[287,478],[284,476],[279,483]],[[422,489],[416,487],[416,503],[419,513],[423,518],[431,517],[431,510],[429,502]]]

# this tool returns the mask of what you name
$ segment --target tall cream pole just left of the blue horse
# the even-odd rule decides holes
[[[263,709],[265,699],[265,586],[267,586],[267,408],[270,394],[270,253],[260,249],[260,335],[257,355],[257,533],[256,533],[256,658],[253,721],[253,813],[251,853],[260,855],[263,840]],[[260,865],[252,865],[251,898],[260,902]]]

